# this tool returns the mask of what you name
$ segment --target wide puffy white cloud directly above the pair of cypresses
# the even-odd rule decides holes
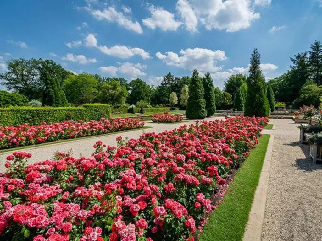
[[[176,66],[184,69],[198,69],[202,72],[217,72],[221,67],[217,67],[216,63],[219,60],[225,60],[226,55],[223,50],[211,50],[211,49],[181,49],[180,54],[174,52],[166,52],[161,54],[156,53],[156,57],[163,60],[167,65]]]

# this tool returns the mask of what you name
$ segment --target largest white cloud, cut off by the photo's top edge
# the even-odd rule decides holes
[[[235,32],[250,27],[251,22],[260,18],[250,0],[191,0],[190,3],[207,30]]]

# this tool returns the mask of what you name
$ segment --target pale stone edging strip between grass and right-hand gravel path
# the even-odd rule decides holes
[[[273,146],[274,135],[270,135],[270,140],[267,146],[263,168],[260,173],[260,180],[255,191],[253,204],[251,206],[251,211],[249,213],[248,222],[243,237],[244,241],[261,240],[268,184],[270,179],[270,162],[273,154]]]

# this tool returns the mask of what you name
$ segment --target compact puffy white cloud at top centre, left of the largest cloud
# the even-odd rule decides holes
[[[142,22],[150,29],[160,28],[162,31],[176,31],[182,24],[175,20],[175,15],[164,10],[162,7],[149,7],[151,17],[143,19]]]

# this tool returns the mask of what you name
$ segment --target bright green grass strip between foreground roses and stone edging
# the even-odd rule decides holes
[[[269,140],[267,134],[259,138],[259,144],[238,170],[222,204],[210,216],[200,241],[242,240]]]

